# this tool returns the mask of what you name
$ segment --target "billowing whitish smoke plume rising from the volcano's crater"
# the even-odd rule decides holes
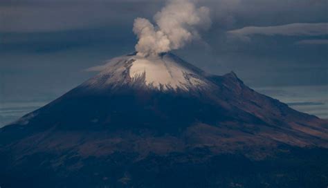
[[[148,19],[134,20],[134,33],[138,37],[135,48],[140,56],[158,55],[185,46],[199,39],[199,30],[210,27],[210,10],[196,8],[192,0],[170,0],[154,16],[154,26]]]

